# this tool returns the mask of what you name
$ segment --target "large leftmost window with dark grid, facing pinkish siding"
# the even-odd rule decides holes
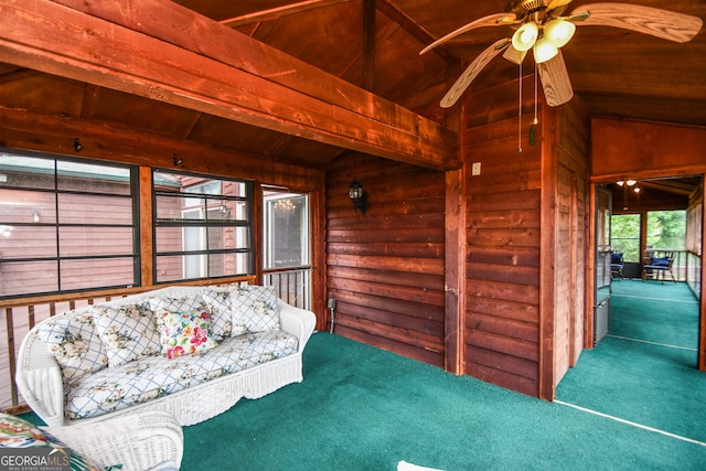
[[[139,285],[136,174],[0,153],[0,296]]]

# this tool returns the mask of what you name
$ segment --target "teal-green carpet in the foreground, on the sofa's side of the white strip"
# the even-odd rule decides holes
[[[184,427],[184,439],[186,471],[395,470],[400,460],[448,471],[706,469],[706,447],[329,333],[307,346],[303,383]]]

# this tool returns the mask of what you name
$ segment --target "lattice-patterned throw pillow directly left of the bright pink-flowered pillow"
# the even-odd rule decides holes
[[[106,347],[108,366],[120,366],[161,351],[153,313],[145,304],[94,307],[96,329]]]

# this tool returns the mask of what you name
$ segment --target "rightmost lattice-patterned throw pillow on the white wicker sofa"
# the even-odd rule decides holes
[[[279,330],[277,297],[270,288],[258,285],[240,285],[234,295],[234,332],[239,325],[243,325],[250,333]]]

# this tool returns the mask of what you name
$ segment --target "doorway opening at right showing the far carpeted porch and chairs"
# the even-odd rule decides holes
[[[596,334],[603,329],[601,338],[612,335],[665,345],[674,341],[673,346],[693,351],[693,363],[697,365],[698,352],[705,347],[699,345],[704,329],[702,176],[610,182],[598,185],[597,195],[601,193],[599,189],[609,192],[611,213],[606,224],[609,227],[607,249],[600,245],[602,234],[596,233],[596,272],[601,271],[599,268],[607,270],[606,257],[599,257],[605,251],[610,251],[613,265],[606,303],[610,312],[598,315],[595,310]],[[606,218],[603,210],[597,201],[597,222]],[[595,283],[596,288],[600,285]],[[673,289],[675,286],[678,289]],[[684,299],[684,292],[691,299]],[[653,302],[645,303],[649,299]],[[665,300],[671,302],[664,304]],[[691,309],[694,314],[676,318],[682,309]],[[691,319],[688,325],[683,325],[685,319]],[[649,324],[654,322],[657,324]],[[676,341],[661,335],[674,332],[677,325],[686,338]]]

